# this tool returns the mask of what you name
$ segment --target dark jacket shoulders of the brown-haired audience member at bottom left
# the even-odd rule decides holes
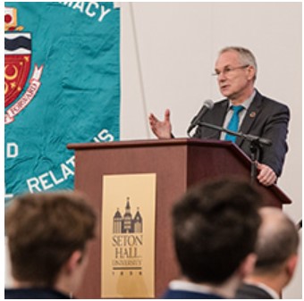
[[[5,288],[5,299],[70,299],[50,288]]]

